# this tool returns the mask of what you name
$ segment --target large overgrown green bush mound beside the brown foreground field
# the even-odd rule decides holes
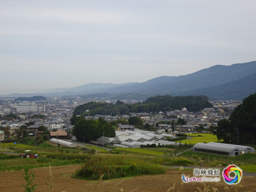
[[[105,174],[104,174],[105,173]],[[159,164],[146,163],[141,159],[120,155],[118,157],[103,156],[88,160],[84,166],[76,170],[76,177],[87,180],[116,179],[120,177],[137,176],[144,174],[164,174],[165,168]]]

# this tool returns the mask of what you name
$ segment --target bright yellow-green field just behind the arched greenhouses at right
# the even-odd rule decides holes
[[[202,135],[203,137],[194,137],[194,136],[197,136],[197,135]],[[190,134],[190,136],[191,136],[191,134]],[[210,142],[217,142],[217,141],[218,141],[218,139],[217,139],[216,135],[208,134],[208,133],[194,133],[193,138],[190,138],[190,143],[191,144],[204,143],[204,142],[210,143]],[[220,141],[223,141],[223,140],[220,140]],[[180,141],[177,141],[177,142],[180,142]],[[189,144],[189,139],[181,140],[181,143],[185,143],[185,142],[187,144]]]

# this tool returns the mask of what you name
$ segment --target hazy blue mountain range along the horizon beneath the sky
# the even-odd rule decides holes
[[[73,88],[48,89],[12,97],[84,96],[145,100],[156,95],[206,95],[214,100],[241,100],[256,92],[256,61],[230,66],[215,65],[184,76],[161,76],[143,83],[90,83]],[[129,93],[129,94],[127,94]]]

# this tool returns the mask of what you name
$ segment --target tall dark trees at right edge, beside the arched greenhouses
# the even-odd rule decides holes
[[[237,141],[238,131],[238,141]],[[221,120],[216,132],[218,140],[225,142],[256,143],[256,93],[247,97],[243,104],[237,106],[229,120]]]

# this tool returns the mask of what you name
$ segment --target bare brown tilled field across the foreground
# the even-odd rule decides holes
[[[70,166],[60,166],[60,167],[52,167],[53,172],[53,191],[54,192],[93,192],[97,182],[88,181],[88,180],[79,180],[72,179],[71,175],[75,172],[76,169],[80,168],[80,165],[70,165]],[[51,191],[48,186],[44,183],[44,181],[50,182],[49,177],[49,168],[37,168],[31,170],[35,172],[34,184],[39,184],[36,187],[36,192],[49,192]],[[23,188],[20,185],[25,185],[25,180],[21,176],[24,171],[12,171],[12,172],[0,172],[0,189],[3,192],[14,192],[14,191],[22,191]],[[163,175],[144,175],[127,179],[117,179],[110,180],[110,184],[106,183],[103,185],[104,181],[100,181],[95,191],[97,192],[130,192],[133,189],[135,191],[143,192],[143,191],[152,191],[152,192],[166,192],[169,188],[173,186],[175,183],[175,190],[178,191],[180,187],[180,191],[199,191],[196,187],[204,190],[204,184],[201,182],[196,182],[194,185],[192,182],[184,183],[181,185],[181,176],[182,174],[191,177],[193,176],[192,172],[187,171],[178,171],[178,170],[167,170],[166,174]],[[223,183],[223,181],[219,182]],[[218,184],[219,184],[218,183]],[[206,183],[206,187],[214,187],[217,183],[208,182]],[[243,177],[242,181],[239,183],[243,186],[238,191],[255,191],[256,192],[256,178],[254,177]],[[115,187],[116,185],[116,187]],[[229,188],[230,185],[227,185]],[[114,188],[114,189],[113,189]],[[223,186],[218,186],[219,191],[224,191]],[[123,189],[123,190],[122,190]],[[221,190],[222,189],[222,190]],[[232,188],[231,191],[234,191],[235,188]]]

